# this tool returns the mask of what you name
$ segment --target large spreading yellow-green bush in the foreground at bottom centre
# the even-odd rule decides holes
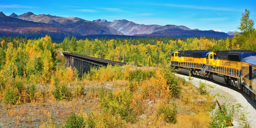
[[[142,111],[142,97],[134,97],[131,91],[105,91],[100,94],[101,109],[120,116],[127,122],[136,122],[138,114]],[[138,100],[139,99],[139,100]]]

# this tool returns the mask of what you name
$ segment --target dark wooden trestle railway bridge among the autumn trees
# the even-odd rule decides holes
[[[71,66],[72,68],[76,68],[79,72],[79,76],[82,76],[84,73],[88,73],[91,68],[95,67],[99,69],[100,66],[107,66],[108,64],[111,65],[119,65],[123,66],[128,63],[117,62],[112,60],[105,60],[101,58],[95,58],[91,56],[83,56],[79,54],[72,54],[68,52],[62,52],[65,56],[65,67]]]

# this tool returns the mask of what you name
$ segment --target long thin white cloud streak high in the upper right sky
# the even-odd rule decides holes
[[[158,6],[167,6],[167,7],[179,7],[179,8],[192,8],[198,10],[217,10],[217,11],[232,11],[229,8],[217,8],[217,7],[207,7],[207,6],[190,6],[190,5],[182,5],[182,4],[157,4],[157,3],[149,3]]]

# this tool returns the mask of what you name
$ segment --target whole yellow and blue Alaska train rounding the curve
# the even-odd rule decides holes
[[[256,52],[250,50],[177,50],[171,52],[171,67],[244,91],[256,100]]]

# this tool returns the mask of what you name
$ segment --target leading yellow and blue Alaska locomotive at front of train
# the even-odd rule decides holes
[[[207,50],[179,50],[172,52],[171,66],[175,66],[178,72],[203,76],[206,66]]]

